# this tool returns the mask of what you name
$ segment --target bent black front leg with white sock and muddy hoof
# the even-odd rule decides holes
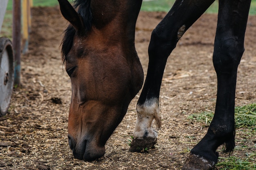
[[[148,72],[137,102],[137,122],[130,151],[139,152],[156,144],[157,131],[151,125],[155,119],[157,128],[161,127],[159,93],[167,58],[185,31],[213,2],[176,0],[172,9],[153,30],[148,47]]]

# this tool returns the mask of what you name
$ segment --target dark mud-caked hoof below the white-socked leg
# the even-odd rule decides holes
[[[144,137],[143,139],[132,139],[130,144],[130,152],[147,152],[148,149],[154,148],[157,143],[157,138]]]

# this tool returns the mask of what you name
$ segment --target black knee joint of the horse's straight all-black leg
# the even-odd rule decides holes
[[[237,71],[244,52],[243,41],[236,37],[216,37],[213,52],[213,65],[217,74],[232,74]]]

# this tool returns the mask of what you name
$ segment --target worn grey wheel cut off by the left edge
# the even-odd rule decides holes
[[[14,57],[12,43],[0,37],[0,116],[9,108],[14,82]]]

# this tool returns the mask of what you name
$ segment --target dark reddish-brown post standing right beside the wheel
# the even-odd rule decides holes
[[[13,50],[14,50],[14,85],[20,86],[20,28],[21,2],[13,0]]]

